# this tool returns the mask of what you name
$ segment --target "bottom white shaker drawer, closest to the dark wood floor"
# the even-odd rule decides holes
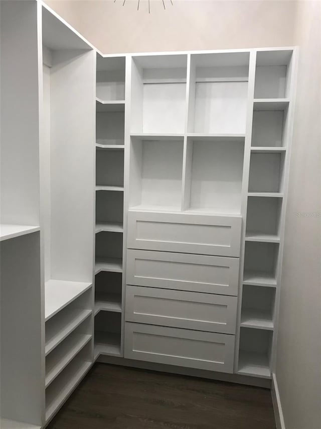
[[[228,334],[126,322],[124,357],[232,373],[234,339]]]

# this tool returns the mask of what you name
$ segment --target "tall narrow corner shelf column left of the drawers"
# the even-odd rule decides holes
[[[96,56],[94,359],[121,355],[125,61]]]

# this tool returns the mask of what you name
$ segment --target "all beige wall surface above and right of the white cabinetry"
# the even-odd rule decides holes
[[[286,429],[320,429],[320,3],[165,1],[46,3],[104,53],[300,45],[276,379]]]

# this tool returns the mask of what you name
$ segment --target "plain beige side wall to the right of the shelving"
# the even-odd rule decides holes
[[[321,217],[313,217],[321,216],[320,14],[321,3],[298,3],[298,85],[276,361],[286,429],[321,428]]]

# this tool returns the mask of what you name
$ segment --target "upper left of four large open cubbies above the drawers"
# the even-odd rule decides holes
[[[132,59],[132,133],[184,133],[187,55]]]

